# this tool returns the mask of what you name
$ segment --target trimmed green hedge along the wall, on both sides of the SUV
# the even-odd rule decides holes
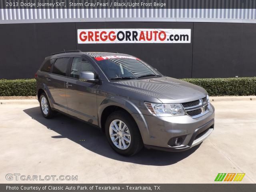
[[[256,77],[182,79],[202,86],[210,96],[256,95]],[[0,80],[0,96],[35,96],[35,79]]]

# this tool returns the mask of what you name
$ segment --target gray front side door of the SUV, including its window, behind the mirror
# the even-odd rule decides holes
[[[66,80],[66,99],[68,114],[80,118],[92,124],[98,124],[97,97],[98,84],[79,80],[80,72],[96,70],[89,60],[82,57],[74,57]]]

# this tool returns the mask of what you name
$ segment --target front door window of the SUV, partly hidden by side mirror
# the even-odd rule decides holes
[[[70,77],[79,79],[79,75],[83,71],[94,72],[94,68],[90,62],[83,58],[74,57],[70,72]]]

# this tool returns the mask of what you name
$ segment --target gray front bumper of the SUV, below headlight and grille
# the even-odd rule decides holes
[[[199,118],[190,116],[156,117],[143,115],[144,121],[137,124],[146,148],[166,151],[184,151],[202,143],[214,129],[214,107]],[[170,144],[172,138],[182,138],[178,146]]]

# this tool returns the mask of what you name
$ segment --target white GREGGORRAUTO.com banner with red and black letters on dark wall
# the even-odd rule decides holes
[[[191,29],[78,29],[78,44],[190,43]]]

